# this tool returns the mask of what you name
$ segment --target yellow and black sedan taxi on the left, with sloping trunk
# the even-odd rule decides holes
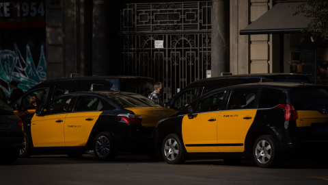
[[[100,160],[111,160],[120,151],[154,153],[154,127],[174,113],[135,93],[61,95],[23,120],[26,148],[21,157],[37,149],[64,150],[70,157],[93,150]]]

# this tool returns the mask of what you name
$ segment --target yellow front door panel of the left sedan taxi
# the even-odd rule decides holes
[[[65,114],[36,116],[31,119],[31,136],[34,147],[64,147]]]

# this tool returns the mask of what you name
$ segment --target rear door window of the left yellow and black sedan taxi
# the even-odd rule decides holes
[[[100,110],[102,110],[102,103],[98,97],[79,96],[77,103],[75,103],[73,112]]]

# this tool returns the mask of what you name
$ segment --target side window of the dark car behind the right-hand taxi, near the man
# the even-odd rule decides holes
[[[174,103],[172,104],[172,108],[179,110],[181,108],[184,108],[185,105],[193,102],[197,95],[197,90],[198,88],[193,88],[185,91],[184,93],[179,95],[179,97],[176,97],[176,99],[174,99]]]

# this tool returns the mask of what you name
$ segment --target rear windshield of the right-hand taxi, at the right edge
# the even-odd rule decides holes
[[[290,103],[296,110],[318,110],[327,113],[328,87],[307,87],[290,90]]]

